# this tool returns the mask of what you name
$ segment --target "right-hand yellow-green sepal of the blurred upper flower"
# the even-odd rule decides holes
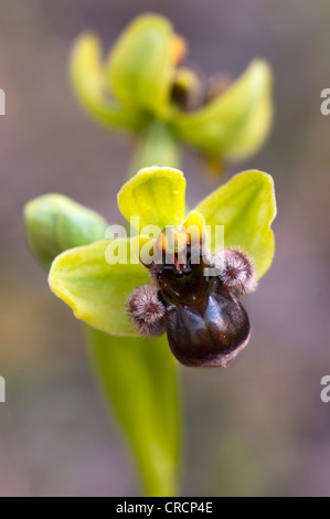
[[[268,137],[272,91],[268,63],[255,60],[227,91],[198,112],[178,114],[173,125],[182,139],[210,157],[245,158]]]

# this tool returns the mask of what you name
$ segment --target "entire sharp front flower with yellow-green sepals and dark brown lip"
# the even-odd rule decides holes
[[[273,180],[260,171],[237,174],[189,214],[184,193],[185,179],[177,169],[139,171],[118,193],[118,205],[142,233],[60,254],[50,286],[92,327],[117,336],[167,332],[172,352],[185,366],[225,367],[249,338],[238,299],[255,288],[273,261]],[[223,251],[214,251],[216,225],[224,227]],[[150,226],[152,237],[145,232]],[[194,245],[191,226],[202,230]],[[167,229],[177,244],[172,263],[164,254]],[[211,231],[207,237],[204,229]],[[160,251],[149,264],[141,255],[147,245]],[[205,268],[215,268],[215,274],[205,274]]]

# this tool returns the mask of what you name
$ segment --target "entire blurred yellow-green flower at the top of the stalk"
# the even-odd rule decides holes
[[[72,51],[73,88],[89,115],[111,130],[150,134],[163,147],[166,139],[173,148],[188,144],[210,165],[256,153],[273,121],[268,63],[256,59],[231,82],[225,74],[206,78],[185,63],[187,54],[185,40],[156,14],[135,19],[105,60],[99,38],[84,32]]]

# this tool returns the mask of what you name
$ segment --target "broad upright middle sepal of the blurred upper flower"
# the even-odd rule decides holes
[[[172,35],[170,22],[156,14],[138,17],[121,33],[109,57],[107,78],[123,104],[163,113],[173,70]]]

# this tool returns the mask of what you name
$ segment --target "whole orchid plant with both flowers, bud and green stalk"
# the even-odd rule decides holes
[[[91,32],[72,50],[81,105],[137,144],[129,176],[139,173],[118,193],[128,236],[61,194],[40,197],[24,210],[29,245],[50,271],[51,289],[87,325],[88,358],[148,496],[180,492],[175,358],[190,367],[225,367],[237,356],[251,332],[241,299],[274,256],[268,174],[241,173],[187,212],[185,179],[170,168],[180,167],[182,145],[213,169],[255,153],[272,127],[270,67],[255,60],[232,83],[223,75],[206,78],[187,55],[185,40],[155,14],[134,20],[107,56]]]

